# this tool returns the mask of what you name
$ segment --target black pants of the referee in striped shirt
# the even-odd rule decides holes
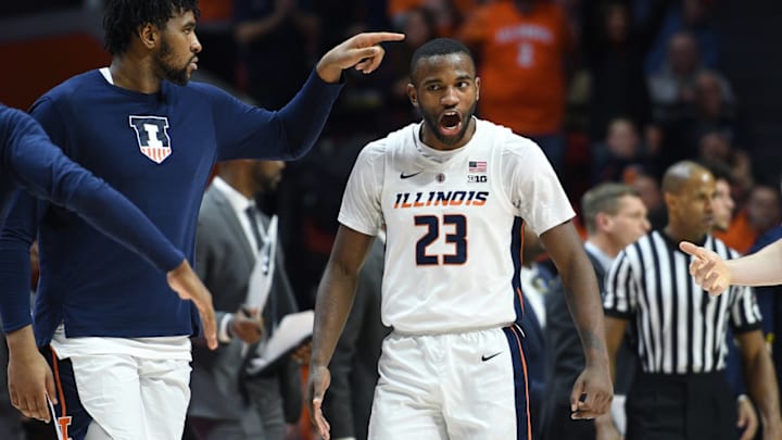
[[[735,397],[724,372],[638,373],[627,400],[626,440],[735,440]]]

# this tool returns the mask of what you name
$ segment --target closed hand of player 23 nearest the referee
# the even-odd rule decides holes
[[[614,386],[606,365],[588,365],[570,392],[570,418],[591,419],[606,414],[614,400]]]

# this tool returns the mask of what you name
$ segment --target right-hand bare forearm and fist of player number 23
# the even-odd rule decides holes
[[[608,411],[614,398],[597,279],[571,221],[546,230],[540,238],[562,276],[584,350],[585,368],[573,388],[572,410],[579,418],[593,418]]]

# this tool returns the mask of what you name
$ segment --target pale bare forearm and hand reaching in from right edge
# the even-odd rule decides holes
[[[728,261],[714,251],[688,241],[679,243],[679,248],[693,256],[690,274],[710,294],[720,294],[730,285],[782,284],[782,240],[777,240],[751,255]]]

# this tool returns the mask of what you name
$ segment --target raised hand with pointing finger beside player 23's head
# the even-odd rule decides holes
[[[345,68],[355,67],[365,74],[375,71],[382,61],[386,50],[383,41],[400,41],[404,34],[364,33],[342,41],[326,52],[317,64],[317,73],[326,83],[337,83]]]

